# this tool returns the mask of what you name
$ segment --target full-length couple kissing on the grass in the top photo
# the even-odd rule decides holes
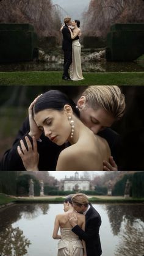
[[[84,79],[81,68],[81,35],[80,21],[71,21],[71,18],[64,19],[65,25],[60,29],[63,34],[62,49],[64,52],[63,76],[64,80],[78,81]],[[70,68],[70,76],[68,70]]]

